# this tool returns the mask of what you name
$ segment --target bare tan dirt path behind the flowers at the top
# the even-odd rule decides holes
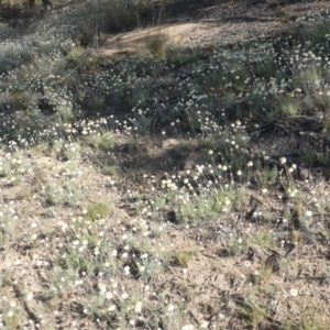
[[[101,53],[135,53],[155,40],[205,47],[273,38],[317,23],[329,9],[330,1],[175,1],[168,9],[173,23],[112,35]]]

